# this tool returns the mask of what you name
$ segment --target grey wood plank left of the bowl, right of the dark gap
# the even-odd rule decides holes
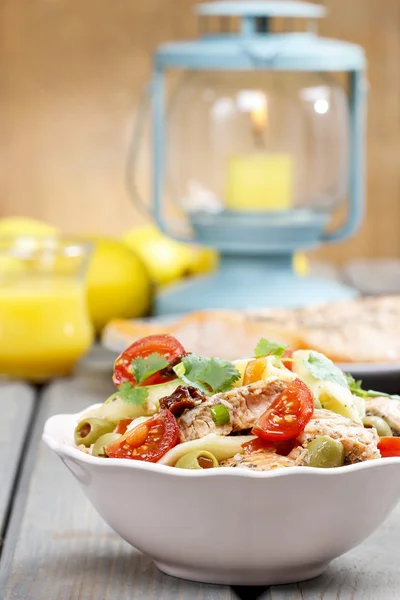
[[[111,391],[109,374],[97,373],[56,382],[45,393],[4,546],[2,600],[230,600],[229,588],[158,572],[101,521],[67,469],[40,444],[48,415],[78,411]]]

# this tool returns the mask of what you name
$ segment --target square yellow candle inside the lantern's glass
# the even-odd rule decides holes
[[[279,211],[292,206],[293,161],[290,154],[234,156],[228,162],[226,208]]]

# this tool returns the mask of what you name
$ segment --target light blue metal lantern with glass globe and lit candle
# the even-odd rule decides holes
[[[196,9],[219,31],[154,56],[152,212],[168,235],[217,248],[221,261],[212,276],[162,292],[157,314],[353,295],[338,282],[297,277],[292,258],[351,236],[362,220],[363,49],[315,33],[321,5],[233,0]],[[286,26],[306,19],[307,31],[277,32],[276,17]],[[168,198],[185,217],[183,234]],[[328,231],[346,200],[344,223]]]

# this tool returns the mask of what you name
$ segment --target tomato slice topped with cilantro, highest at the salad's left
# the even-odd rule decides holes
[[[139,356],[146,358],[149,354],[157,352],[162,354],[168,362],[172,362],[182,354],[185,354],[185,349],[180,342],[172,335],[148,335],[131,344],[124,350],[114,363],[113,382],[115,385],[130,381],[135,384],[135,378],[132,375],[131,363],[134,358]],[[156,385],[157,383],[165,383],[175,378],[174,374],[163,376],[162,371],[150,375],[142,385]]]

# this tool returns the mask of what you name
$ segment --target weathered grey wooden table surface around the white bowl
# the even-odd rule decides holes
[[[312,581],[229,588],[163,575],[102,522],[41,442],[49,415],[102,402],[112,392],[110,373],[86,365],[36,395],[23,384],[3,384],[0,390],[1,600],[400,598],[400,506],[377,533]]]

